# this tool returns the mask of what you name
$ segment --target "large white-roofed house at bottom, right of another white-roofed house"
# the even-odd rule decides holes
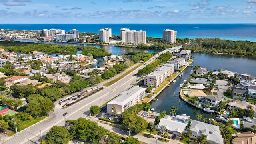
[[[194,139],[205,135],[206,141],[210,142],[210,144],[223,144],[224,139],[222,138],[219,129],[219,126],[193,120],[189,129],[192,132],[192,136],[190,136],[190,138]]]

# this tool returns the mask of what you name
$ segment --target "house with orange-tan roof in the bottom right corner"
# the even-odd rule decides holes
[[[242,132],[236,134],[232,139],[232,144],[256,144],[256,134],[254,132]]]

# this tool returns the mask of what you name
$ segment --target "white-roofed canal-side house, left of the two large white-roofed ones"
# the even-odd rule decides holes
[[[168,116],[167,118],[160,119],[156,129],[159,129],[160,126],[165,126],[167,132],[169,133],[179,135],[185,130],[187,124],[185,122],[177,121],[171,116]]]

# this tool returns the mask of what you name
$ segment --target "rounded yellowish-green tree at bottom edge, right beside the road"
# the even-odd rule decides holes
[[[61,126],[53,126],[45,136],[46,144],[68,144],[73,136]]]

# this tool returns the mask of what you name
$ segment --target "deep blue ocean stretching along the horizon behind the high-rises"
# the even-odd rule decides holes
[[[147,37],[162,38],[164,29],[177,31],[177,38],[221,38],[224,40],[248,40],[256,42],[256,24],[0,24],[0,29],[42,30],[62,29],[68,32],[98,33],[101,28],[111,28],[112,35],[120,35],[120,28],[143,30]]]

